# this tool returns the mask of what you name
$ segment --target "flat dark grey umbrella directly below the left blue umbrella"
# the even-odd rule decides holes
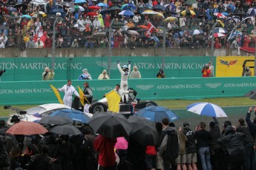
[[[73,123],[69,118],[60,117],[60,116],[47,116],[39,120],[40,124],[54,124],[54,125],[63,125],[68,123]]]

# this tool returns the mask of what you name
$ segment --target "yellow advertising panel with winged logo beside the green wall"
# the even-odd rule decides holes
[[[230,57],[216,57],[216,77],[241,77],[245,71],[243,67],[247,67],[254,72],[255,57],[246,56],[230,56]]]

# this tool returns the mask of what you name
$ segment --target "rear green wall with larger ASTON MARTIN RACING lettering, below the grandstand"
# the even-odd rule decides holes
[[[82,69],[87,68],[93,79],[97,79],[103,69],[110,67],[111,79],[120,78],[116,60],[120,64],[137,65],[142,78],[156,78],[157,72],[165,63],[167,78],[202,77],[203,64],[210,57],[86,57],[86,58],[55,58],[54,80],[77,80]],[[215,61],[215,57],[214,57]],[[215,63],[215,62],[214,62]],[[1,81],[41,81],[45,67],[52,68],[52,58],[0,58],[0,69],[6,69]],[[108,72],[109,74],[109,72]]]

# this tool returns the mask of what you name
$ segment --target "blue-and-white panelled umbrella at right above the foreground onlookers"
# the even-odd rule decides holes
[[[197,115],[205,115],[209,117],[228,117],[224,110],[213,103],[207,103],[207,102],[200,102],[200,103],[193,103],[189,106],[187,106],[187,110],[189,112],[194,112]]]

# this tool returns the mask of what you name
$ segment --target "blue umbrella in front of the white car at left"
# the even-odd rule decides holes
[[[72,120],[80,121],[82,123],[88,123],[91,120],[88,115],[85,115],[85,113],[75,109],[59,109],[50,114],[50,116],[70,118]]]

